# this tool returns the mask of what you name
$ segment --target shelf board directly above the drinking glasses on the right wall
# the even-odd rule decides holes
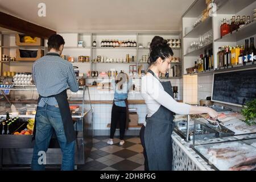
[[[212,18],[209,17],[204,22],[197,25],[193,30],[188,32],[184,38],[199,38],[200,35],[205,34],[212,29]]]

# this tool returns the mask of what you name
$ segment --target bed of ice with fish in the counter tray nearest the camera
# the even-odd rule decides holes
[[[210,164],[221,171],[255,170],[256,148],[242,141],[195,146]]]

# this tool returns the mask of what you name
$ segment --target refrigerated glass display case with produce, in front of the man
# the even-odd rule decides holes
[[[89,100],[85,101],[88,92]],[[69,106],[71,107],[74,129],[76,131],[75,164],[84,164],[92,148],[93,116],[89,89],[80,86],[79,92],[67,90]],[[0,134],[0,167],[30,167],[34,141],[32,141],[31,125],[35,118],[38,92],[35,86],[14,86],[0,88],[0,118],[6,119],[6,112],[10,118],[18,119],[15,128],[9,134]],[[11,106],[14,105],[14,107]],[[30,124],[30,125],[28,125]],[[6,130],[6,129],[5,129]],[[24,132],[25,131],[25,132]],[[26,133],[27,131],[27,133]],[[30,131],[30,132],[28,132]],[[23,134],[22,134],[23,133]],[[25,134],[26,133],[26,134]],[[52,137],[47,151],[46,164],[61,164],[61,150],[56,137]]]

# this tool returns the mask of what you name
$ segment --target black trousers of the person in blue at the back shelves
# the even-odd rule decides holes
[[[110,127],[110,138],[114,138],[115,129],[117,129],[117,123],[120,127],[120,140],[123,140],[125,136],[125,125],[126,125],[126,107],[119,107],[113,104],[111,127]]]

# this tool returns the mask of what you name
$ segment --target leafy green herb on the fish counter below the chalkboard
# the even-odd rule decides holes
[[[246,103],[245,109],[242,109],[242,115],[245,117],[247,125],[256,125],[256,99]]]

